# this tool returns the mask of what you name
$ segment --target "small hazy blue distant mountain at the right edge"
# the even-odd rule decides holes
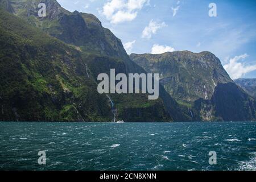
[[[256,98],[256,78],[241,78],[234,80],[237,85],[241,86],[251,97]]]

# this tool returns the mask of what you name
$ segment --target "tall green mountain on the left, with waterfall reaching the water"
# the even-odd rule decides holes
[[[37,16],[39,2],[46,3],[44,18]],[[54,0],[0,0],[0,6],[13,14],[1,10],[1,120],[189,119],[161,85],[155,101],[145,94],[97,93],[100,73],[146,71],[94,15],[70,13]]]

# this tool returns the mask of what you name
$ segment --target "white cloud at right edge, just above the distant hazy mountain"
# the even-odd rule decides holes
[[[243,63],[240,63],[238,61],[244,60],[248,55],[245,53],[240,56],[233,57],[229,60],[229,63],[224,65],[224,68],[229,73],[229,76],[236,80],[238,78],[241,78],[246,73],[252,72],[256,70],[256,65],[245,65]]]

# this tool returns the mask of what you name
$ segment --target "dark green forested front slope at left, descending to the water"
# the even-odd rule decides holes
[[[85,57],[0,10],[1,121],[110,121]]]

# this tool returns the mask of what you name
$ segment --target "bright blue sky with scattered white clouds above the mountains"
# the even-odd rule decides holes
[[[255,0],[57,1],[96,15],[129,54],[210,51],[231,78],[256,78]]]

